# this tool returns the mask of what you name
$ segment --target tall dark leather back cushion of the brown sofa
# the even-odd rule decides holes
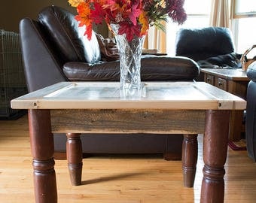
[[[63,62],[88,62],[100,60],[99,44],[95,33],[89,41],[84,27],[78,27],[74,15],[63,8],[49,6],[38,14],[49,40],[59,50]]]

